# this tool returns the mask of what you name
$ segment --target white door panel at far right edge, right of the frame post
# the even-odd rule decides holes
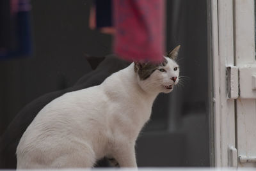
[[[255,65],[256,63],[254,40],[254,1],[235,0],[234,4],[236,9],[236,17],[234,20],[236,28],[234,33],[236,42],[236,64],[239,68],[243,68],[246,65]],[[248,84],[248,86],[252,86],[251,74],[253,73],[247,74],[249,75],[248,80],[240,80],[240,84]],[[241,91],[244,91],[244,89],[245,87],[242,87]],[[252,87],[250,87],[250,91],[252,91]],[[252,99],[239,98],[236,103],[238,156],[256,156],[256,101]],[[239,163],[239,167],[256,167],[256,164]]]

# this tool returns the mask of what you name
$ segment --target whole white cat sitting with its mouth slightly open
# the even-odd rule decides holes
[[[93,167],[104,156],[137,167],[134,145],[152,104],[179,82],[179,47],[161,64],[132,63],[100,85],[51,101],[20,139],[17,168]]]

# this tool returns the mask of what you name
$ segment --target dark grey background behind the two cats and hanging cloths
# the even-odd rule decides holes
[[[0,61],[0,135],[42,94],[72,86],[92,71],[86,54],[111,53],[111,36],[88,27],[92,1],[31,1],[33,56]],[[207,4],[167,0],[166,50],[181,45],[184,87],[160,94],[138,139],[141,167],[209,166]]]

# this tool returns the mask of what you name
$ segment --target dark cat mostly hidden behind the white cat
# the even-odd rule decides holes
[[[16,115],[0,138],[0,168],[17,168],[15,152],[19,140],[26,128],[28,128],[29,124],[31,124],[35,116],[45,107],[45,105],[65,93],[99,85],[112,73],[122,70],[131,64],[118,59],[118,57],[113,54],[106,57],[86,56],[86,59],[92,67],[92,71],[86,73],[83,77],[77,80],[76,84],[67,89],[47,93],[36,98],[26,105],[26,107],[22,108]],[[95,164],[95,166],[109,167],[109,162],[104,159]]]

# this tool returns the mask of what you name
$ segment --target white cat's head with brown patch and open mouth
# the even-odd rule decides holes
[[[176,63],[180,45],[168,52],[161,63],[134,63],[138,83],[148,93],[170,93],[179,82],[179,65]]]

